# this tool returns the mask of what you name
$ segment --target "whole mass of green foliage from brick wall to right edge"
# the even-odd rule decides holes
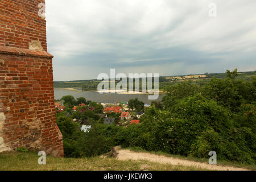
[[[163,101],[144,109],[140,125],[103,125],[92,113],[92,129],[84,133],[70,117],[57,115],[65,155],[99,155],[122,145],[198,158],[216,151],[218,159],[255,163],[256,77],[238,79],[236,70],[226,75],[167,86]]]

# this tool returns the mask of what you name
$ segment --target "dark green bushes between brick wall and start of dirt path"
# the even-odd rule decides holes
[[[101,125],[94,121],[89,132],[81,131],[81,125],[65,113],[57,114],[57,125],[63,134],[64,156],[69,158],[90,157],[105,154],[119,144],[114,138],[119,127]]]

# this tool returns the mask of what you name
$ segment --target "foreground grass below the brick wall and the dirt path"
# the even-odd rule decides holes
[[[46,157],[46,165],[38,164],[36,152],[3,152],[0,154],[0,171],[191,171],[205,170],[196,167],[173,166],[146,160],[121,161],[113,158],[56,158]]]

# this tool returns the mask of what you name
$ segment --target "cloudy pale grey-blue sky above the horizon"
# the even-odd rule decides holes
[[[160,76],[255,71],[255,9],[255,0],[46,0],[54,81],[110,69]]]

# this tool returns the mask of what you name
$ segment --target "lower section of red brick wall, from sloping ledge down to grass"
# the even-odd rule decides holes
[[[62,135],[55,118],[52,56],[27,49],[23,52],[18,55],[11,48],[0,47],[0,112],[5,115],[5,145],[63,156]]]

